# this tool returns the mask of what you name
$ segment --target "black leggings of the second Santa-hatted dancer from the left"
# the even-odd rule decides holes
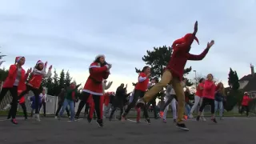
[[[30,90],[34,93],[34,98],[35,98],[35,114],[39,114],[39,94],[40,90],[34,88],[33,86],[26,85],[26,90],[22,91],[21,94],[18,95],[18,99],[24,97],[25,94],[30,92]]]

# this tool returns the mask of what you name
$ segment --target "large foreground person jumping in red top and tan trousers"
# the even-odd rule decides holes
[[[182,76],[184,73],[184,66],[186,65],[187,60],[198,61],[205,58],[210,47],[214,45],[214,41],[208,42],[207,47],[202,54],[190,54],[191,44],[194,40],[198,42],[198,38],[195,36],[197,32],[198,22],[195,22],[193,34],[186,34],[183,38],[174,41],[172,45],[173,54],[171,55],[170,62],[168,62],[168,65],[166,66],[166,70],[162,74],[161,81],[147,91],[144,97],[137,102],[137,106],[145,106],[145,102],[150,102],[155,94],[158,94],[163,87],[170,83],[174,87],[178,98],[177,127],[182,130],[189,130],[186,128],[183,120],[185,95],[182,88]]]

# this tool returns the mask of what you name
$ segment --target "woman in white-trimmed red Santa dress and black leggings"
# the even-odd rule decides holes
[[[102,81],[103,79],[107,79],[110,74],[110,68],[112,67],[111,64],[107,63],[105,61],[104,55],[98,55],[94,62],[90,64],[89,72],[90,75],[87,78],[86,84],[83,87],[82,90],[82,104],[79,103],[78,109],[81,109],[85,105],[85,102],[87,102],[87,99],[90,97],[90,94],[92,94],[92,97],[94,99],[94,106],[97,114],[97,123],[98,126],[103,127],[103,101],[104,97],[103,95],[103,89],[102,89]],[[91,122],[91,118],[87,118],[88,122]]]

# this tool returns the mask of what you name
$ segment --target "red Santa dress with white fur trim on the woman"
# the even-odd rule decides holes
[[[90,75],[82,91],[94,95],[103,95],[102,81],[108,78],[110,74],[106,70],[106,66],[99,66],[97,62],[90,64]]]

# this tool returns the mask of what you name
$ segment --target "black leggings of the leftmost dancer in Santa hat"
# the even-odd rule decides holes
[[[13,100],[12,100],[13,105],[10,108],[10,114],[12,118],[16,118],[17,107],[18,107],[18,86],[3,87],[0,93],[0,103],[2,102],[2,99],[5,97],[8,91],[10,91],[10,94],[13,97]]]

